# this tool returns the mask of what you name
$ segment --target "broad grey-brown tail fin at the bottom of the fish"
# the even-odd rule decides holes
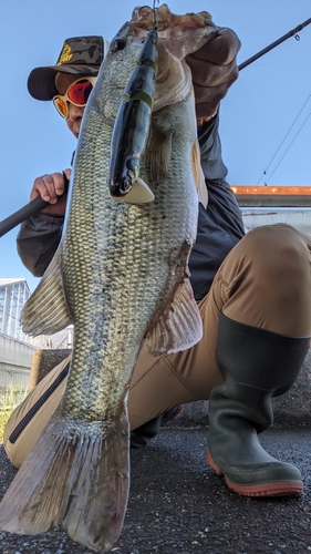
[[[0,529],[35,535],[62,525],[73,541],[106,552],[128,497],[128,422],[62,420],[55,412],[0,505]]]

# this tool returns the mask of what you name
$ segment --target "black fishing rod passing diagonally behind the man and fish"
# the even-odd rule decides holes
[[[311,23],[311,18],[307,19],[307,21],[303,21],[303,23],[296,27],[294,29],[292,29],[288,33],[283,34],[280,39],[276,40],[274,42],[272,42],[268,47],[260,50],[260,52],[258,52],[257,54],[252,55],[251,58],[249,58],[248,60],[242,62],[240,65],[238,65],[238,70],[241,71],[242,69],[247,68],[252,62],[255,62],[256,60],[258,60],[262,55],[267,54],[267,52],[270,52],[270,50],[278,47],[279,44],[284,42],[287,39],[289,39],[290,37],[294,37],[297,40],[299,40],[299,38],[298,38],[299,31],[304,29],[304,27],[309,25],[310,23]],[[7,217],[6,219],[2,219],[2,222],[0,222],[0,237],[6,235],[6,233],[9,233],[9,230],[12,230],[14,227],[17,227],[17,225],[21,224],[22,222],[24,222],[29,217],[38,214],[39,212],[41,212],[41,209],[43,209],[44,207],[46,207],[49,205],[50,205],[50,203],[43,201],[41,198],[41,196],[38,196],[33,201],[29,202],[23,207],[21,207],[17,212],[14,212],[12,215],[10,215],[9,217]]]

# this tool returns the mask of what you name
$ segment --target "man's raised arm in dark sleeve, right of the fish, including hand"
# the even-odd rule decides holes
[[[197,239],[189,269],[196,300],[208,293],[228,253],[242,238],[243,222],[236,197],[226,182],[219,138],[219,103],[238,76],[240,41],[230,29],[187,58],[193,71],[198,117],[200,161],[208,191],[208,205],[199,204]]]

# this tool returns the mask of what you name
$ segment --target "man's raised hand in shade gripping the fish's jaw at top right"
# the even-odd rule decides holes
[[[238,79],[237,54],[241,43],[231,29],[218,28],[218,35],[186,61],[193,73],[198,125],[217,112],[220,100]]]

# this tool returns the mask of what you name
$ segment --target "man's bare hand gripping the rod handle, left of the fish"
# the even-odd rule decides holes
[[[66,178],[70,181],[71,170],[64,171]],[[42,214],[48,214],[54,217],[62,217],[65,214],[66,208],[66,194],[61,198],[65,189],[65,179],[62,173],[52,173],[52,175],[42,175],[42,177],[37,177],[34,179],[30,199],[33,201],[37,196],[45,202],[50,203],[50,206],[42,209]]]

